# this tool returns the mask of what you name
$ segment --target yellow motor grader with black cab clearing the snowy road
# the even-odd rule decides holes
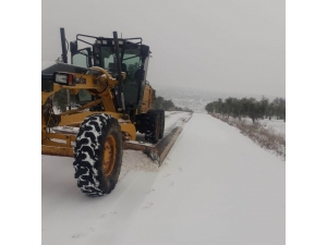
[[[77,186],[102,196],[114,188],[124,146],[137,132],[150,146],[164,137],[165,111],[152,109],[155,89],[146,81],[150,50],[142,38],[118,38],[117,32],[111,38],[78,34],[70,42],[69,64],[64,28],[60,34],[62,62],[41,72],[41,152],[73,157]],[[81,42],[86,47],[78,49]],[[66,110],[58,112],[53,98],[62,89]],[[161,144],[161,152],[173,138]]]

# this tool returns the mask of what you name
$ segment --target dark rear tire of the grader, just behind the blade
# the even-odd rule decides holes
[[[147,133],[145,134],[145,140],[156,144],[159,139],[160,134],[160,114],[157,110],[149,110]]]

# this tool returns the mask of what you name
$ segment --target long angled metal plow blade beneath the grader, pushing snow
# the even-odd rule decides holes
[[[192,114],[191,114],[192,117]],[[173,144],[178,139],[179,135],[183,130],[183,124],[186,123],[190,119],[184,119],[182,125],[175,126],[162,139],[160,139],[156,145],[152,145],[143,142],[124,142],[124,149],[142,150],[153,161],[157,161],[159,166],[164,162]]]

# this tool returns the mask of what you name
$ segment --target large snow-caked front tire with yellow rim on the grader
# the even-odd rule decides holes
[[[122,164],[122,134],[117,119],[106,113],[87,117],[74,149],[77,186],[88,196],[104,196],[116,186]]]

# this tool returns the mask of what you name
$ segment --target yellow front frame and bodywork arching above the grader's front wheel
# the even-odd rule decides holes
[[[118,120],[124,139],[135,140],[135,125],[130,120],[123,119],[123,114],[117,112],[113,105],[113,95],[111,94],[110,88],[112,88],[118,83],[118,81],[111,77],[111,75],[108,74],[107,71],[101,68],[95,66],[92,69],[100,71],[102,75],[95,76],[87,74],[70,73],[75,75],[76,79],[80,82],[78,84],[76,83],[74,86],[66,86],[53,83],[52,91],[43,91],[43,110],[49,97],[51,97],[56,91],[58,91],[61,88],[69,89],[71,94],[77,94],[80,89],[86,89],[90,94],[93,94],[94,90],[97,90],[96,95],[100,96],[101,99],[92,101],[83,106],[82,108],[69,110],[63,113],[57,114],[56,117],[60,117],[60,122],[56,126],[78,127],[86,117],[92,115],[94,113],[107,113]],[[125,78],[125,73],[123,73],[123,78]],[[93,107],[99,102],[102,102],[105,111],[92,112],[86,110],[87,108]],[[46,122],[44,112],[41,113],[41,154],[73,157],[75,140],[75,133],[50,133],[50,128],[48,126],[48,122]]]

